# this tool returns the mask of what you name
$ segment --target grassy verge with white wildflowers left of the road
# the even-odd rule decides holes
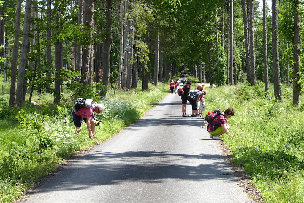
[[[8,108],[9,85],[5,83],[0,96],[0,202],[20,198],[37,178],[54,170],[65,157],[108,139],[138,120],[168,94],[168,86],[150,85],[147,91],[118,90],[115,95],[114,90],[109,90],[108,98],[98,101],[105,105],[105,111],[97,116],[103,121],[96,127],[98,140],[91,140],[84,122],[78,135],[74,134],[74,124],[67,122],[72,121],[71,93],[64,94],[60,105],[50,102],[51,95],[33,95],[33,100],[40,100],[37,106],[27,103],[22,109]]]

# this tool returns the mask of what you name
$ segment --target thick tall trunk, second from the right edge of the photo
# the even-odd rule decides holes
[[[278,49],[278,1],[272,0],[272,70],[274,79],[275,98],[283,101]]]

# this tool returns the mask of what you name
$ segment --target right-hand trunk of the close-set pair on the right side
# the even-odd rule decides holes
[[[250,33],[250,71],[251,79],[250,84],[254,85],[255,82],[255,55],[254,55],[254,25],[253,25],[253,0],[249,0],[249,33]]]

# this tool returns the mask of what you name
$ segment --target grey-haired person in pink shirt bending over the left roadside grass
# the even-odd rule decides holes
[[[87,100],[89,100],[89,99],[87,99]],[[79,133],[81,130],[81,119],[82,119],[87,124],[87,128],[89,131],[89,138],[93,139],[95,136],[95,127],[96,127],[96,120],[97,120],[97,118],[95,118],[95,116],[94,116],[94,112],[102,113],[104,110],[105,110],[104,105],[97,104],[93,100],[91,102],[91,107],[89,107],[89,108],[88,108],[88,106],[87,107],[83,106],[83,107],[79,108],[78,112],[76,109],[74,109],[72,112],[72,115],[73,115],[74,125],[76,127],[76,133]],[[87,122],[87,119],[89,119],[90,122]]]

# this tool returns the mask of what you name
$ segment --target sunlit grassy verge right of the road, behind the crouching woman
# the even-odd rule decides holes
[[[250,175],[267,202],[303,202],[303,106],[292,107],[292,87],[283,86],[284,103],[263,84],[207,89],[206,111],[234,108],[228,119],[233,137],[224,135],[233,162]],[[303,104],[303,100],[301,100]]]

